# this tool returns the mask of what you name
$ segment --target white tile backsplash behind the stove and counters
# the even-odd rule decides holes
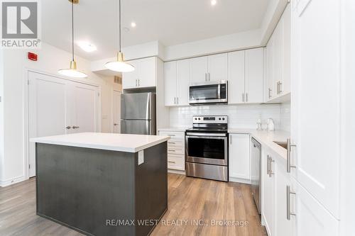
[[[281,111],[283,111],[281,116]],[[258,118],[266,123],[273,118],[275,129],[289,130],[290,105],[280,104],[242,104],[242,105],[212,105],[185,106],[170,108],[170,126],[192,126],[192,116],[224,115],[228,116],[230,128],[256,128]]]

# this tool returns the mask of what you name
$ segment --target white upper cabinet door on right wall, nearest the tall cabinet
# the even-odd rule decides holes
[[[291,6],[288,4],[283,12],[283,74],[280,94],[291,91]]]

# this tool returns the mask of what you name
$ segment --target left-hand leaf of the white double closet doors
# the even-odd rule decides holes
[[[64,79],[28,72],[28,136],[67,132],[67,84]],[[35,176],[35,144],[28,142],[28,176]]]

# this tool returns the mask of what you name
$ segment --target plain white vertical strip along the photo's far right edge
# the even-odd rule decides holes
[[[340,234],[354,234],[355,212],[355,1],[342,0]],[[327,116],[327,114],[324,114]],[[331,125],[331,124],[330,124]],[[324,129],[324,133],[327,133]]]

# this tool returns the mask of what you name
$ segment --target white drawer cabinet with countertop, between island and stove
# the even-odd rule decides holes
[[[170,136],[170,140],[168,140],[168,169],[185,171],[185,132],[160,131],[159,135]]]

